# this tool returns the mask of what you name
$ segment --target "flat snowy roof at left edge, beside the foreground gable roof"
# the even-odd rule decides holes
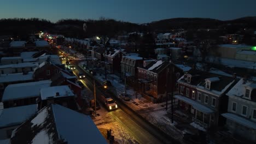
[[[0,128],[11,127],[25,122],[37,112],[37,104],[10,107],[0,110]]]

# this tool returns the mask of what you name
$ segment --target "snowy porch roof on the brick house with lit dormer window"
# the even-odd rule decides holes
[[[188,104],[192,105],[194,107],[194,109],[199,110],[199,111],[201,111],[203,113],[209,114],[209,113],[213,113],[214,112],[214,110],[208,108],[207,106],[199,104],[196,101],[191,100],[191,99],[189,99],[187,97],[183,97],[182,95],[174,95],[174,98],[182,100],[185,103],[188,103]]]

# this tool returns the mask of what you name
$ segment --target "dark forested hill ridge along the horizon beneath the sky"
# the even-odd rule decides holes
[[[83,24],[86,23],[86,31]],[[44,19],[0,19],[0,35],[26,35],[38,31],[63,34],[66,37],[85,38],[91,35],[117,34],[122,32],[167,32],[171,29],[226,29],[237,31],[239,28],[256,29],[256,17],[242,17],[236,20],[220,21],[203,18],[175,18],[150,23],[137,24],[113,19],[77,20],[65,19],[56,23]]]

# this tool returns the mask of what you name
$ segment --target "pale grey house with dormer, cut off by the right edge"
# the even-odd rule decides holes
[[[229,97],[226,128],[236,137],[256,142],[256,81],[240,79],[226,93]]]

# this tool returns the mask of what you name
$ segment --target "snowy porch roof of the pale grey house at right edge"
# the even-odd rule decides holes
[[[249,121],[248,119],[237,116],[233,113],[222,113],[222,116],[225,117],[225,118],[228,118],[231,121],[234,121],[236,123],[240,123],[242,125],[245,125],[248,128],[256,129],[255,122]]]

